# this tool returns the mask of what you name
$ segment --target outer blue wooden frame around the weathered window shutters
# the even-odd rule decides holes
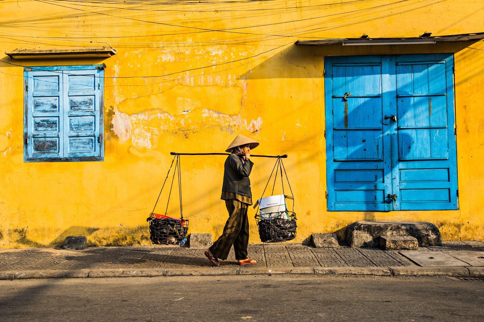
[[[32,66],[24,67],[24,162],[88,162],[88,161],[104,161],[104,69],[105,64],[102,65],[63,65],[63,66]],[[100,70],[99,79],[99,157],[63,157],[63,158],[29,158],[28,152],[28,115],[29,115],[29,102],[28,102],[28,73],[31,71],[81,71],[81,70]],[[33,90],[33,89],[32,89]]]

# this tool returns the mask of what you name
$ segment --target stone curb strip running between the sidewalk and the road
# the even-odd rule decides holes
[[[390,266],[390,267],[254,267],[254,268],[146,268],[3,271],[0,280],[40,278],[120,278],[155,276],[228,275],[366,275],[484,277],[484,266]]]

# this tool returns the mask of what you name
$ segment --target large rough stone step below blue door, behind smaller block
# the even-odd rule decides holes
[[[350,247],[379,247],[380,236],[413,236],[419,246],[442,246],[437,226],[425,221],[355,221],[347,226]]]

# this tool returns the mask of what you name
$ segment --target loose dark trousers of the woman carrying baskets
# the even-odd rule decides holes
[[[234,245],[235,258],[243,260],[247,258],[247,245],[249,244],[249,220],[247,219],[247,204],[236,199],[225,201],[228,211],[228,219],[224,231],[210,247],[213,256],[226,260],[228,252]]]

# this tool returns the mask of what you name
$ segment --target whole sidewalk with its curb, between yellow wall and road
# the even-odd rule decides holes
[[[437,266],[425,267],[410,261],[403,255],[404,251],[323,249],[287,243],[249,245],[249,256],[257,260],[257,264],[239,267],[232,250],[220,267],[212,267],[204,250],[178,246],[0,249],[0,279],[245,274],[484,277],[484,260],[483,263],[479,259],[465,261],[469,254],[476,259],[484,258],[481,256],[484,255],[483,242],[444,242],[442,247],[421,247],[418,252],[425,252],[421,253],[423,258],[435,257],[439,261],[446,256],[453,259],[450,265],[440,261],[436,262]],[[416,255],[418,258],[419,254]]]

